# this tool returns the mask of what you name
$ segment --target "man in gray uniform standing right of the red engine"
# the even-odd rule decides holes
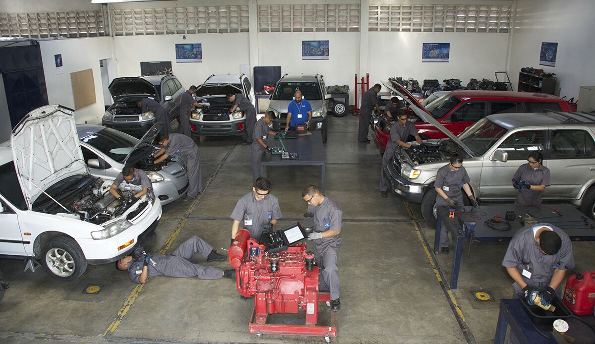
[[[331,310],[339,311],[339,268],[337,257],[341,245],[341,227],[343,212],[341,207],[322,195],[318,187],[308,185],[302,192],[303,200],[308,203],[308,212],[314,214],[314,232],[309,234],[312,240],[314,259],[320,267],[320,290],[328,290],[331,298]]]

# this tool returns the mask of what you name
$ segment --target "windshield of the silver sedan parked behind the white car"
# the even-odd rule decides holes
[[[134,148],[134,145],[139,142],[139,139],[118,130],[104,128],[84,137],[81,141],[95,147],[95,149],[113,160],[122,163],[126,155]]]

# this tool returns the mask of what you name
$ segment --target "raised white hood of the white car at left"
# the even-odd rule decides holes
[[[18,182],[29,209],[41,190],[75,174],[89,174],[74,110],[61,105],[37,108],[12,130],[10,142]]]

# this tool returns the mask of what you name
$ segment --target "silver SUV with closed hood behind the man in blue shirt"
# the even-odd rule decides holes
[[[287,119],[287,108],[293,101],[293,93],[302,91],[302,96],[312,106],[312,121],[310,130],[320,130],[322,142],[327,142],[327,105],[332,95],[326,93],[324,80],[320,74],[314,75],[288,75],[279,79],[267,111],[275,112],[277,119],[273,122],[274,130],[284,130]]]

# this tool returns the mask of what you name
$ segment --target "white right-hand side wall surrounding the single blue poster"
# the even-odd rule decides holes
[[[509,63],[513,85],[522,67],[556,73],[559,95],[575,100],[580,86],[595,85],[593,13],[593,0],[518,0]],[[558,42],[555,67],[539,65],[541,42]]]

